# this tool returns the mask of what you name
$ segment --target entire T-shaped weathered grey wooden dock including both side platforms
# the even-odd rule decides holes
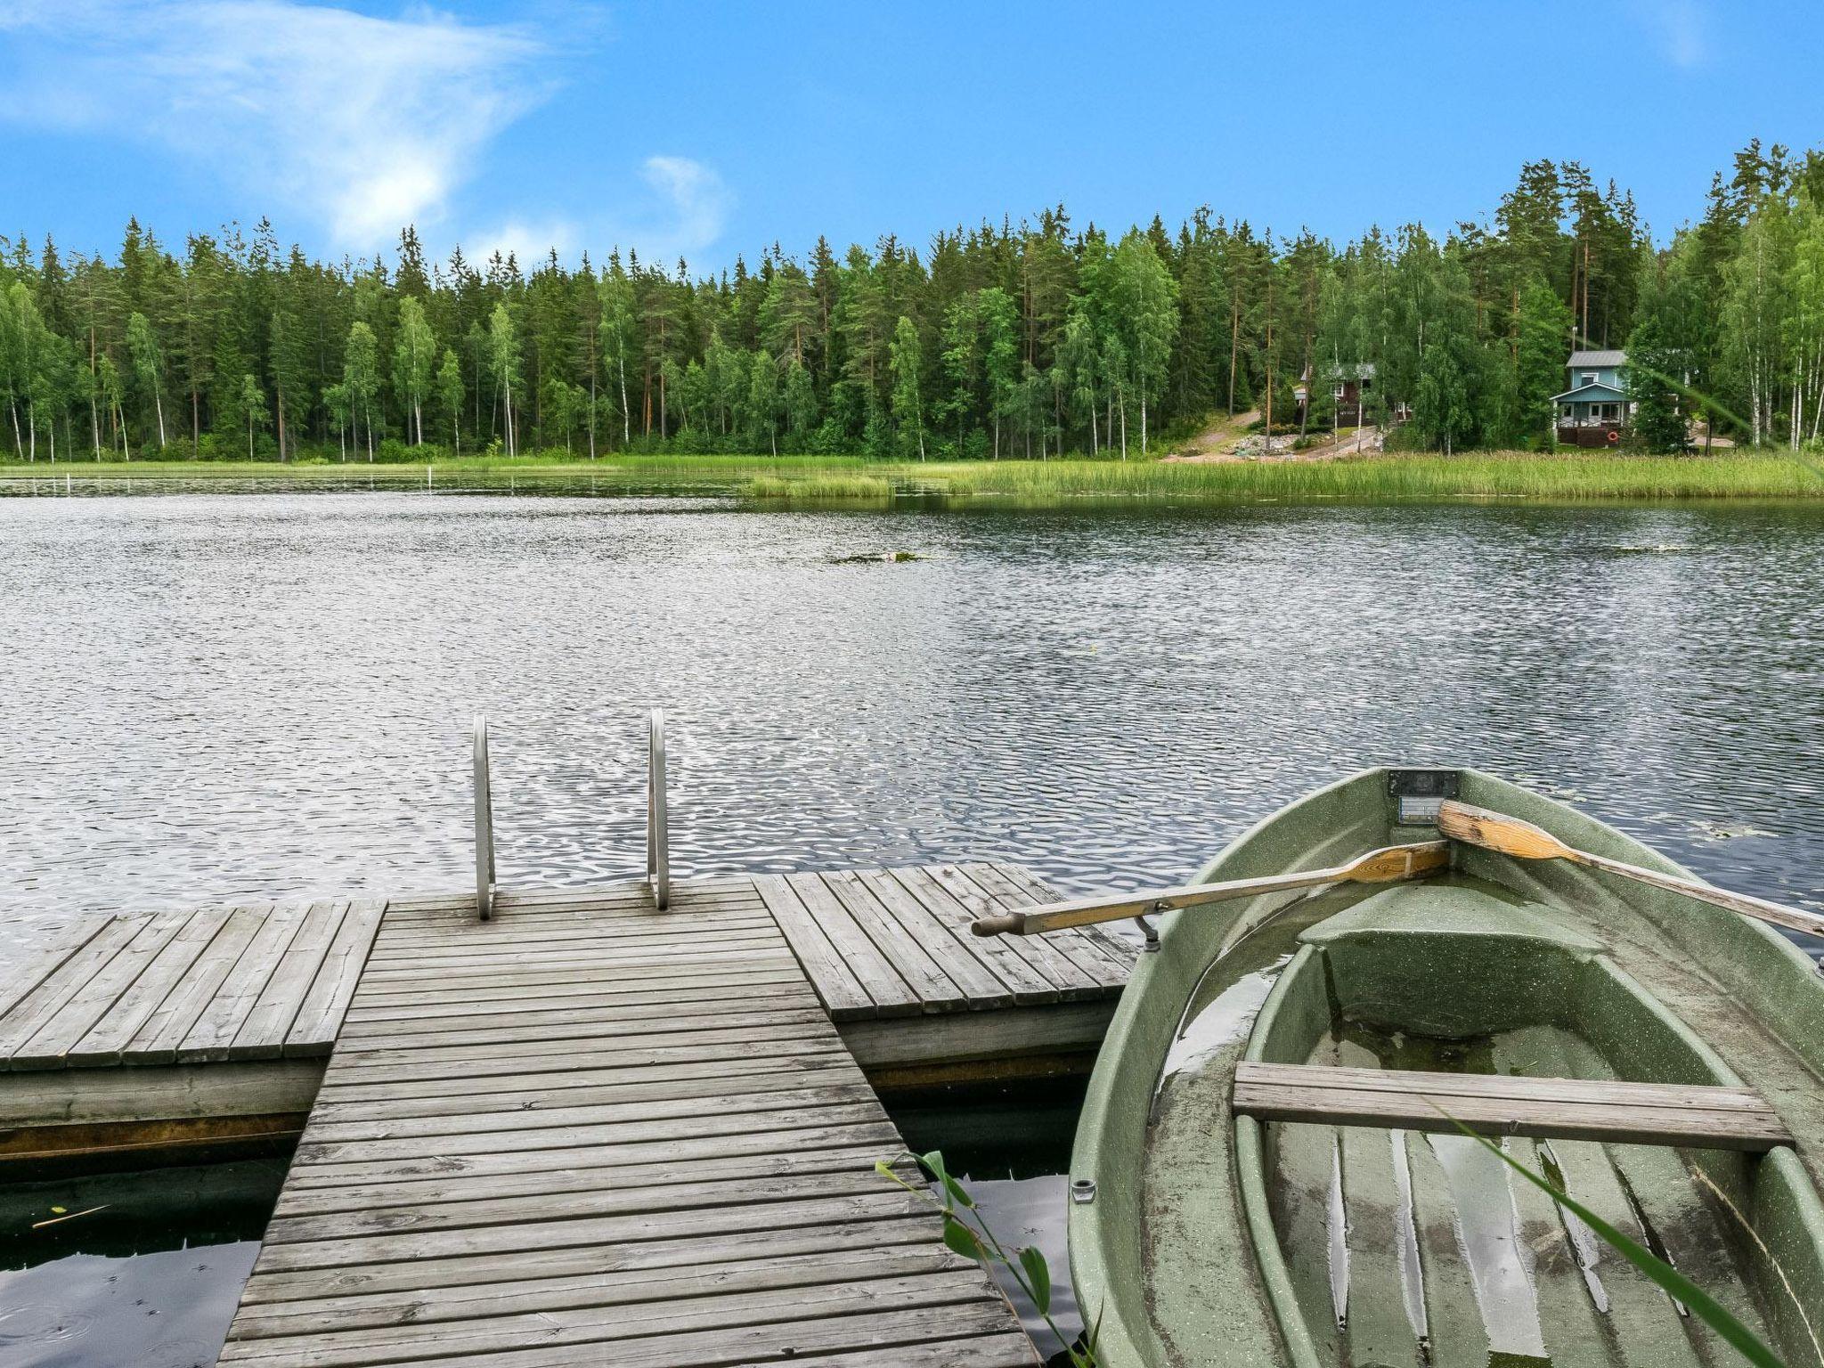
[[[877,1089],[1093,1058],[1133,947],[969,932],[1049,899],[974,863],[86,923],[0,983],[0,1160],[303,1127],[224,1364],[1032,1364],[874,1166]]]

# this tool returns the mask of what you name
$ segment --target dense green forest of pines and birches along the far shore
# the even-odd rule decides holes
[[[1529,447],[1572,347],[1629,348],[1651,449],[1696,416],[1819,441],[1824,151],[1751,144],[1663,244],[1614,182],[1550,161],[1483,223],[1342,248],[1209,210],[1114,235],[1062,206],[713,275],[633,252],[432,263],[412,228],[390,263],[314,261],[264,221],[182,252],[130,223],[113,259],[0,239],[20,460],[1125,456],[1211,414],[1326,427],[1363,367],[1364,420],[1406,420],[1399,445]]]

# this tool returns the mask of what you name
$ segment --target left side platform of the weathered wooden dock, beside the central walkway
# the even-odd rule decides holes
[[[93,917],[0,981],[0,1160],[295,1133],[383,901]]]

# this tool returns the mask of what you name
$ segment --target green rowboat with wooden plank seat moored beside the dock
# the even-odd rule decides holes
[[[1260,823],[1197,883],[1435,843],[1445,793],[1691,877],[1499,779],[1373,770]],[[1419,877],[1160,916],[1071,1167],[1071,1268],[1104,1368],[1742,1363],[1457,1114],[1789,1368],[1824,1368],[1817,967],[1682,892],[1443,850]]]

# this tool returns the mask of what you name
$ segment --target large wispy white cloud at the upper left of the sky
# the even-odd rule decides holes
[[[492,139],[551,91],[531,31],[432,11],[24,0],[0,4],[0,33],[31,46],[11,117],[151,137],[356,252],[445,221]]]

